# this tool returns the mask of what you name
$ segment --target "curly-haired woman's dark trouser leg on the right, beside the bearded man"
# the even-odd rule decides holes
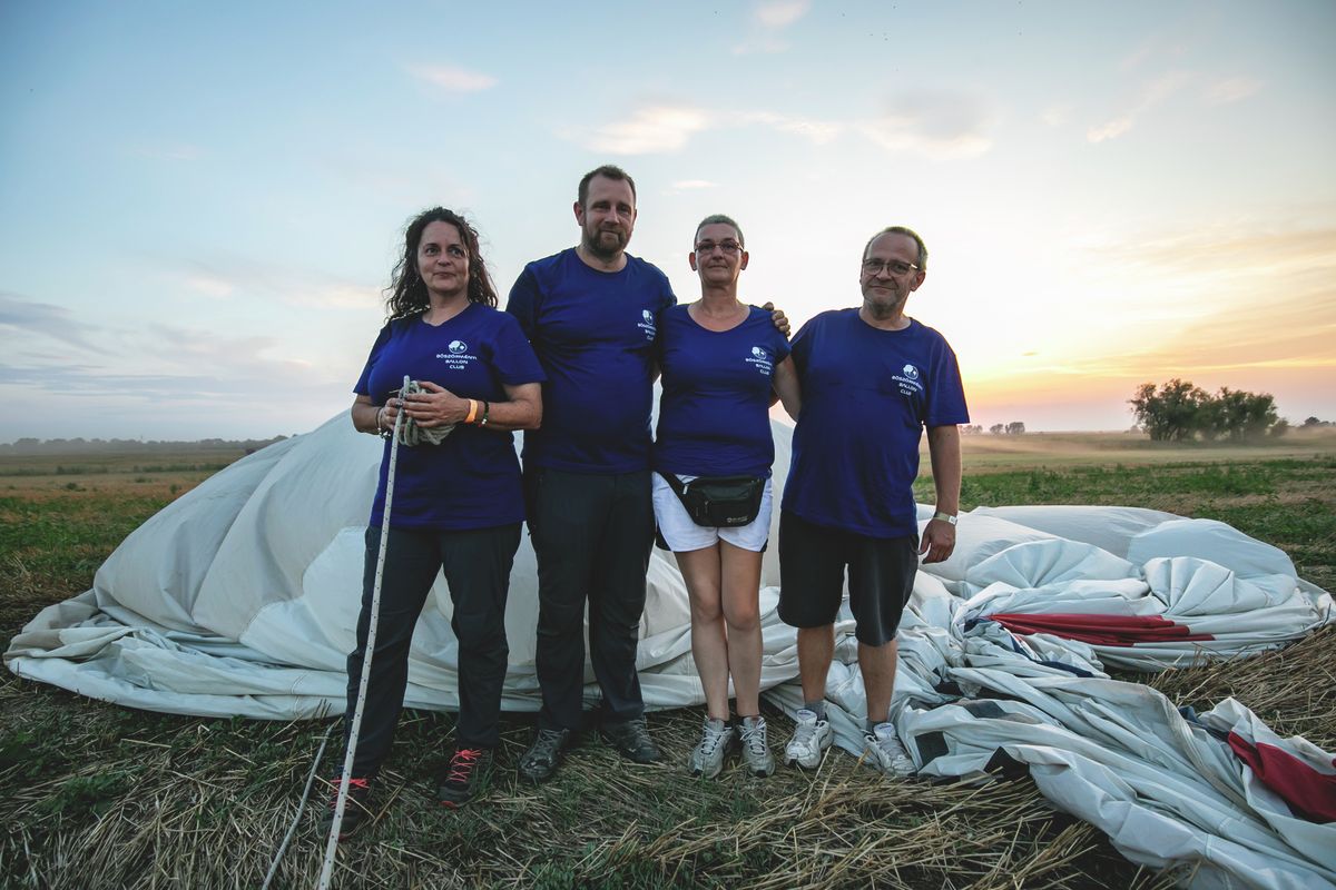
[[[520,526],[441,532],[440,547],[454,603],[450,628],[460,642],[456,742],[461,749],[493,749],[500,742],[501,687],[510,651],[505,600]]]

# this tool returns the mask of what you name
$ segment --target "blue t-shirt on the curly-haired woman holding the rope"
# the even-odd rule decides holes
[[[354,391],[385,404],[390,392],[403,386],[405,374],[457,396],[488,402],[504,402],[505,384],[542,380],[542,367],[514,319],[478,303],[438,327],[420,315],[386,324]],[[389,456],[386,442],[371,506],[370,524],[375,527],[385,510]],[[399,446],[390,510],[395,528],[458,531],[524,522],[514,436],[461,423],[438,446]]]

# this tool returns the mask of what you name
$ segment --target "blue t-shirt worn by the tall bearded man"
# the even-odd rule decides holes
[[[676,302],[668,276],[629,254],[619,272],[589,268],[574,248],[524,267],[506,312],[548,375],[542,428],[524,436],[526,467],[649,468],[657,318]]]

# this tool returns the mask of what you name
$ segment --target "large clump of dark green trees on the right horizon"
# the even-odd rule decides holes
[[[1137,423],[1158,442],[1246,442],[1285,435],[1289,422],[1276,412],[1269,392],[1220,387],[1210,394],[1174,378],[1158,387],[1142,383],[1128,399]]]

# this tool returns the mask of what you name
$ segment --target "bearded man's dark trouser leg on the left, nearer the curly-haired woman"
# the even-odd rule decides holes
[[[607,522],[611,476],[540,470],[532,484],[533,550],[538,559],[538,642],[542,689],[538,727],[580,729],[584,709],[584,615]],[[644,572],[641,572],[641,588]]]

